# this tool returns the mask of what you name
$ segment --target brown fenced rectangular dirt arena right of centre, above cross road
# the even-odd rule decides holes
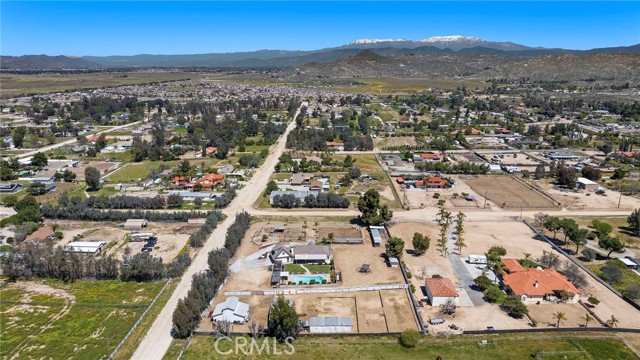
[[[510,176],[461,176],[476,193],[500,207],[506,208],[554,208],[555,204],[542,194]]]

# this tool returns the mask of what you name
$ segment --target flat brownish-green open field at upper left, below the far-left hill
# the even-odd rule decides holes
[[[123,77],[126,75],[127,77]],[[194,73],[0,74],[0,97],[197,79]]]

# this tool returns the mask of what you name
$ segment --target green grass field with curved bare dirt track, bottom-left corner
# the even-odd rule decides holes
[[[106,358],[163,282],[55,280],[0,289],[1,358]]]

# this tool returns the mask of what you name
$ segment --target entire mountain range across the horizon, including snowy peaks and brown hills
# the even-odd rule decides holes
[[[258,50],[188,55],[0,56],[2,70],[109,68],[275,68],[283,76],[474,76],[606,79],[638,76],[640,44],[590,50],[529,47],[476,37],[360,39],[319,50]],[[553,75],[556,74],[556,75]],[[508,76],[507,76],[508,75]]]

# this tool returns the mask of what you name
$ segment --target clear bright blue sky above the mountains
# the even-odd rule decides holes
[[[0,1],[2,55],[314,50],[360,38],[476,36],[589,49],[640,43],[640,1]]]

